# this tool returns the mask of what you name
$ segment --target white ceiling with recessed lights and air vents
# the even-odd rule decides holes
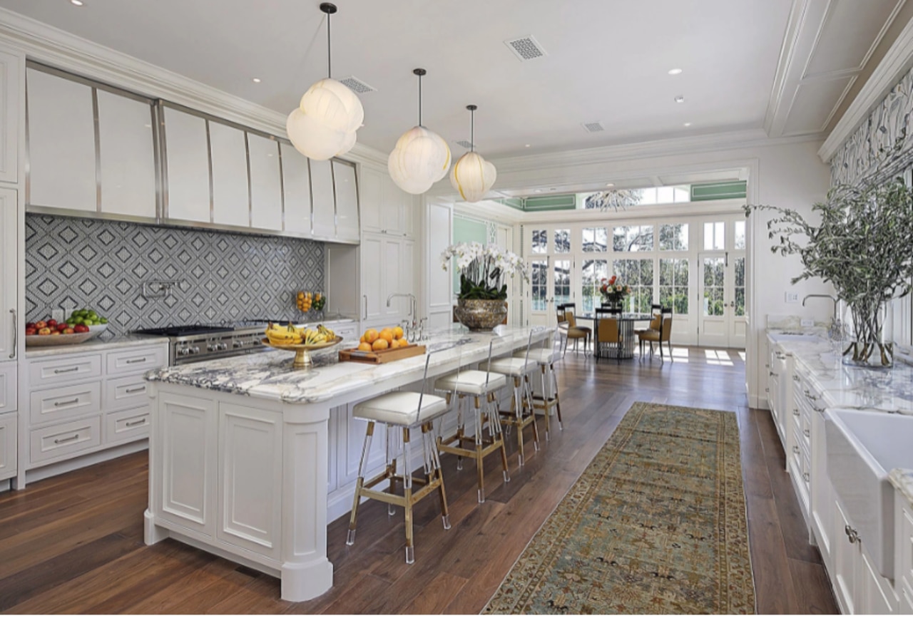
[[[319,0],[84,1],[77,7],[68,0],[0,0],[0,6],[282,113],[326,74],[325,17],[318,10]],[[477,148],[491,158],[722,131],[770,132],[771,125],[779,128],[777,134],[821,131],[823,118],[852,77],[839,70],[866,58],[873,39],[882,34],[880,25],[894,15],[898,3],[336,4],[340,10],[332,18],[333,77],[353,75],[377,89],[361,95],[362,144],[389,152],[397,137],[416,123],[412,69],[422,67],[428,70],[423,84],[425,126],[440,133],[459,156],[464,149],[454,142],[469,139],[465,108],[475,103]],[[806,15],[815,7],[820,14],[816,21]],[[860,22],[862,16],[866,18]],[[860,23],[866,27],[853,27]],[[828,38],[829,32],[834,36]],[[804,33],[804,38],[796,33]],[[504,41],[529,35],[548,55],[520,62]],[[806,40],[808,48],[793,53]],[[850,51],[830,55],[839,49]],[[819,61],[813,66],[805,60],[814,53]],[[827,58],[833,61],[824,62]],[[799,64],[812,68],[812,78],[817,78],[809,80],[804,91],[802,80],[810,72],[790,73]],[[670,68],[683,72],[669,76]],[[827,83],[825,88],[823,73],[841,79],[839,84]],[[254,77],[261,83],[253,83]],[[802,105],[796,102],[797,89]],[[685,102],[676,103],[677,95]],[[602,121],[605,131],[583,130],[582,122],[594,120]],[[805,130],[803,122],[813,126]]]

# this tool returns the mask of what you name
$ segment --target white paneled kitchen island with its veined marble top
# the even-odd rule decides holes
[[[527,328],[502,326],[496,333],[495,355],[530,340]],[[540,330],[533,338],[545,335]],[[432,333],[423,342],[432,354],[428,376],[484,361],[491,340],[491,333],[462,327]],[[346,411],[421,382],[426,358],[373,365],[336,357],[335,348],[314,353],[311,368],[293,370],[292,354],[274,351],[149,372],[146,543],[172,537],[275,575],[288,601],[328,591],[330,469],[341,451],[360,448],[363,440],[358,431],[342,435],[352,421]],[[381,436],[375,443],[383,445]],[[374,464],[383,466],[383,457]],[[354,477],[336,477],[351,478],[353,489]],[[336,504],[348,495],[348,507],[331,508],[332,517],[351,508],[352,492],[343,485],[335,487],[343,497]]]

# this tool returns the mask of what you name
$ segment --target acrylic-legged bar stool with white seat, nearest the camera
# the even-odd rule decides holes
[[[441,475],[441,462],[437,456],[432,422],[437,416],[446,413],[447,402],[443,397],[425,394],[425,380],[428,376],[428,363],[431,361],[429,353],[425,359],[425,376],[422,378],[422,392],[394,391],[379,397],[373,397],[355,405],[353,415],[368,421],[368,430],[364,435],[362,460],[358,466],[358,480],[355,483],[355,498],[352,504],[352,517],[349,519],[349,533],[346,545],[355,542],[355,525],[358,519],[358,506],[362,498],[373,498],[386,502],[387,512],[394,514],[394,506],[400,506],[405,511],[405,561],[412,564],[415,561],[415,547],[413,546],[413,518],[412,510],[422,498],[435,490],[441,499],[441,518],[444,529],[450,529],[450,515],[447,512],[447,498],[444,491],[444,477]],[[387,463],[383,472],[371,480],[365,481],[367,473],[368,456],[371,453],[371,440],[374,435],[374,424],[386,425],[387,435]],[[415,429],[422,431],[422,451],[424,456],[425,477],[413,477],[410,459],[409,442]],[[402,432],[402,433],[401,433]],[[403,471],[397,473],[396,462],[398,456],[403,456]],[[373,489],[383,481],[390,481],[389,492]],[[395,493],[396,482],[403,486],[403,494]],[[413,484],[421,485],[418,491],[413,490]]]

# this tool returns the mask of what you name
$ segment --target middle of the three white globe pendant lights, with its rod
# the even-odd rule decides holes
[[[431,185],[446,176],[450,169],[450,148],[434,131],[422,126],[422,76],[424,68],[416,68],[418,76],[418,125],[403,133],[387,159],[387,170],[394,183],[407,194],[424,194]]]

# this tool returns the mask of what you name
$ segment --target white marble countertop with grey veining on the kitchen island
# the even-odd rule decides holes
[[[496,331],[496,356],[525,345],[530,337],[528,328],[499,326]],[[429,375],[441,365],[485,360],[491,339],[492,333],[468,332],[460,326],[433,331],[429,340],[420,342],[433,354]],[[380,365],[339,362],[341,347],[353,347],[353,342],[312,352],[314,365],[309,369],[292,369],[290,351],[270,351],[153,370],[146,379],[286,403],[317,403],[407,374],[415,374],[420,380],[425,370],[425,355]]]

